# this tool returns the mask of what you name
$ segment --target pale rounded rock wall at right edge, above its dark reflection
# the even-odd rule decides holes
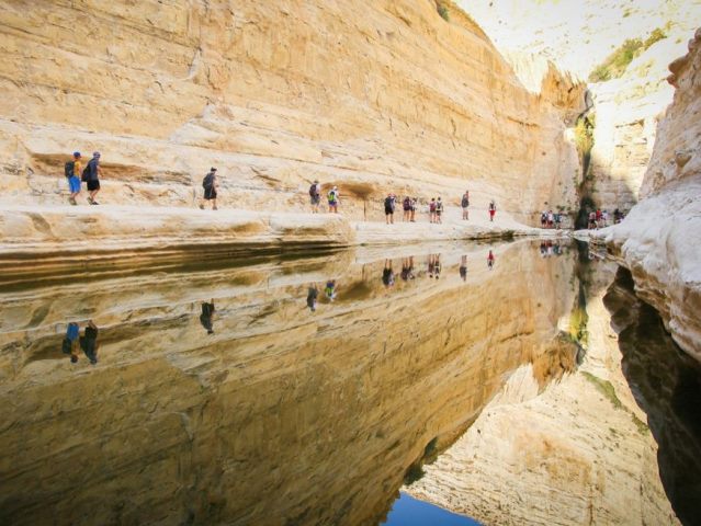
[[[701,31],[669,68],[675,98],[658,127],[644,198],[598,237],[631,268],[636,291],[677,343],[701,359]]]

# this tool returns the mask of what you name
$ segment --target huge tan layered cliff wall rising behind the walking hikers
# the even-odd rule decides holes
[[[63,162],[101,150],[105,202],[192,206],[210,165],[225,206],[299,209],[337,183],[344,213],[388,190],[528,217],[570,204],[564,121],[583,88],[536,93],[466,16],[351,0],[4,2],[2,201],[58,203]]]

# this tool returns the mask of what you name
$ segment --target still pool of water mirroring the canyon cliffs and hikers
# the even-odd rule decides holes
[[[693,458],[698,418],[655,401],[651,392],[665,387],[645,380],[641,358],[623,375],[620,354],[599,367],[592,351],[596,323],[610,320],[588,301],[615,273],[586,248],[544,240],[361,248],[89,283],[3,287],[0,278],[0,524],[523,524],[535,508],[551,524],[586,514],[603,524],[651,502],[676,521],[669,500],[693,516],[696,465],[680,478],[666,460],[663,482],[676,485],[657,491],[654,455],[658,436],[660,455],[686,436]],[[640,352],[612,342],[617,353]],[[664,333],[656,345],[678,357]],[[518,403],[585,378],[583,364],[597,403],[637,419],[632,446],[622,420],[603,413],[600,423],[580,419],[578,432],[607,438],[565,436],[565,457],[554,435],[543,438],[556,431],[507,436],[483,422],[497,403],[528,414]],[[669,367],[687,388],[698,378],[686,362]],[[623,409],[607,401],[609,386]],[[645,411],[655,414],[652,434]],[[494,454],[487,468],[456,453],[477,430],[475,444]],[[497,435],[512,442],[493,444]],[[614,442],[652,453],[621,456]],[[441,471],[444,459],[454,473]],[[554,483],[563,473],[579,485]],[[611,481],[648,476],[657,485],[647,504],[641,492],[609,499],[621,494]],[[525,489],[511,494],[519,481]],[[543,500],[549,483],[563,494]]]

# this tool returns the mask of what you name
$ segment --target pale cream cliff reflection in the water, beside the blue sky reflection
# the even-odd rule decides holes
[[[603,305],[611,265],[587,274],[588,345],[577,371],[539,390],[521,367],[406,491],[486,525],[679,524],[658,471],[663,446],[646,425],[656,416],[636,403],[620,365],[623,336]],[[687,448],[676,439],[664,447]]]

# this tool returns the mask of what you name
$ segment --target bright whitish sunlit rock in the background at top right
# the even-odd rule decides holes
[[[464,1],[465,10],[513,61],[510,50],[536,54],[581,79],[626,39],[664,38],[640,53],[621,78],[589,82],[596,121],[587,182],[595,206],[627,211],[641,196],[657,123],[671,103],[667,65],[686,53],[701,20],[701,3],[682,0]],[[518,62],[515,62],[518,64]],[[515,66],[518,70],[518,66]],[[574,175],[574,174],[573,174]],[[576,174],[581,181],[581,171]]]

